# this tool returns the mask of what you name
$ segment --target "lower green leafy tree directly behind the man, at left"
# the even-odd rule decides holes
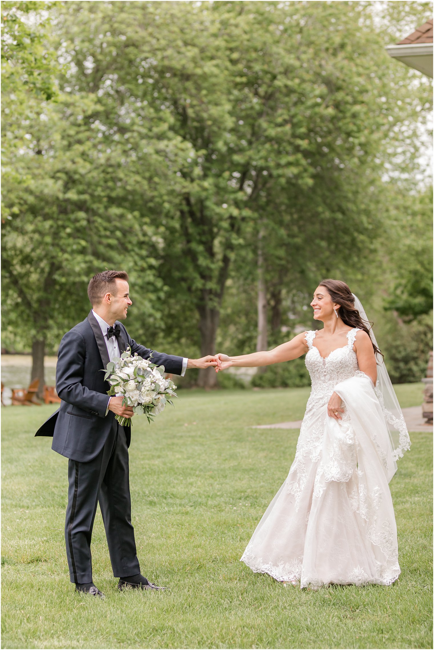
[[[40,111],[40,112],[39,112]],[[142,200],[125,148],[102,153],[83,128],[97,103],[71,101],[28,113],[31,138],[8,157],[3,175],[3,323],[32,346],[32,379],[44,385],[44,354],[90,309],[87,283],[104,268],[132,266],[136,290],[156,289],[149,253],[153,228],[134,207]],[[135,185],[134,187],[130,186]],[[142,294],[143,295],[143,294]]]

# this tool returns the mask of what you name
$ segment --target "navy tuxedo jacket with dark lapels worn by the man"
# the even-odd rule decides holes
[[[164,365],[166,372],[181,374],[183,357],[154,352],[131,339],[119,321],[120,352],[128,346],[144,359]],[[109,361],[107,345],[99,323],[92,314],[68,331],[60,343],[56,367],[56,390],[62,402],[60,408],[42,424],[36,435],[53,436],[51,448],[62,456],[88,462],[101,451],[112,426],[114,413],[107,411],[110,389],[104,381]],[[124,427],[129,447],[131,428]]]

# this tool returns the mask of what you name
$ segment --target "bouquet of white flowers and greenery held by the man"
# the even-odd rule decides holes
[[[164,378],[164,366],[157,367],[138,354],[131,356],[131,348],[107,363],[104,379],[110,384],[108,395],[123,395],[122,404],[132,406],[134,413],[144,413],[148,422],[164,411],[166,402],[173,406],[171,398],[177,397],[175,384]],[[122,426],[131,426],[131,418],[115,417]]]

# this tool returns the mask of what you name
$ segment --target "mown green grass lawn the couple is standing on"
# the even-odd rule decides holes
[[[398,387],[402,406],[421,385]],[[390,488],[400,580],[303,590],[239,558],[288,474],[309,389],[180,391],[130,447],[142,573],[170,591],[118,593],[101,514],[92,539],[105,601],[74,592],[64,549],[67,463],[34,438],[51,406],[3,410],[2,647],[430,648],[432,434],[411,435]]]

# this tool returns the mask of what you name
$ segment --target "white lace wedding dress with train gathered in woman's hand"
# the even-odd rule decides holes
[[[312,392],[296,456],[241,558],[302,588],[391,584],[400,575],[389,489],[396,463],[384,405],[357,365],[357,331],[326,358],[313,345],[316,332],[305,334]],[[333,391],[344,402],[339,422],[327,415]]]

